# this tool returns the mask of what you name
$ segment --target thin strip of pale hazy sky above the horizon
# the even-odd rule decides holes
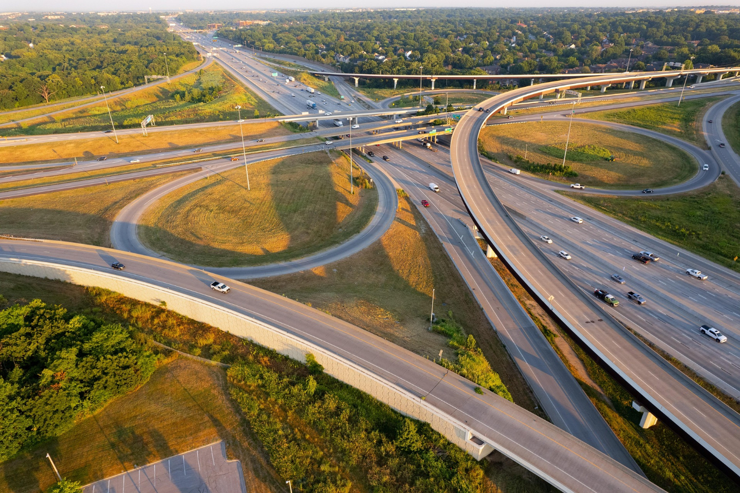
[[[360,0],[348,4],[346,0],[28,0],[10,2],[0,7],[2,11],[18,10],[258,10],[260,8],[321,8],[321,7],[687,7],[693,5],[716,5],[711,1],[676,1],[676,0],[518,0],[516,2],[494,2],[491,0]],[[723,5],[739,5],[734,0]]]

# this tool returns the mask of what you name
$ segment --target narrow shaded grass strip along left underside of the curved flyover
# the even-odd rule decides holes
[[[648,479],[670,493],[735,491],[736,485],[727,476],[717,471],[713,464],[665,424],[642,429],[639,426],[641,415],[632,408],[632,397],[628,392],[542,310],[499,259],[491,259],[491,264],[529,312]]]

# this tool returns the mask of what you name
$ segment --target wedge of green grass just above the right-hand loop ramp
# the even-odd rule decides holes
[[[710,104],[715,101],[719,101],[719,98],[691,99],[682,101],[681,106],[677,106],[677,103],[650,104],[636,108],[585,113],[583,116],[655,130],[706,149],[707,141],[702,132],[702,118]]]

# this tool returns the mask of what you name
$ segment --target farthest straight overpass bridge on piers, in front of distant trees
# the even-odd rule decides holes
[[[662,72],[621,72],[619,74],[608,74],[608,75],[629,75],[630,78],[626,80],[630,84],[634,84],[633,81],[636,79],[631,78],[632,76],[639,76],[640,89],[645,89],[645,84],[650,79],[654,78],[665,78],[667,87],[670,87],[679,77],[684,75],[693,75],[696,77],[696,84],[702,81],[702,78],[707,75],[717,75],[719,81],[724,75],[728,75],[731,72],[735,73],[737,77],[740,74],[740,67],[713,67],[708,69],[690,69],[690,70],[664,70]],[[431,89],[434,89],[434,82],[437,80],[445,81],[473,81],[473,89],[475,89],[476,82],[480,79],[484,81],[501,81],[505,79],[531,79],[532,84],[535,80],[541,79],[588,79],[593,78],[593,74],[505,74],[505,75],[490,75],[490,74],[473,74],[473,75],[415,75],[415,74],[353,74],[345,72],[311,72],[313,75],[321,76],[325,80],[329,80],[329,77],[343,77],[354,79],[354,86],[357,87],[360,84],[360,79],[391,79],[393,81],[393,88],[395,89],[400,79],[412,79],[414,81],[430,81]],[[598,85],[598,84],[593,84]],[[606,90],[610,84],[606,86],[602,85],[602,91]],[[630,86],[631,88],[631,86]]]

